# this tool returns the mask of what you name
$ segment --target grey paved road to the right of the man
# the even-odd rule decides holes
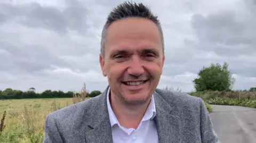
[[[221,143],[256,143],[256,108],[212,107],[210,116]]]

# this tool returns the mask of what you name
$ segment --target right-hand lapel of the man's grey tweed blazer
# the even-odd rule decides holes
[[[154,93],[154,99],[156,104],[156,116],[154,120],[157,127],[159,143],[179,143],[180,117],[172,112],[173,107],[161,95],[157,94],[157,92]]]

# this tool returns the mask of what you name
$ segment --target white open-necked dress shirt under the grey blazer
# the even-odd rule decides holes
[[[112,128],[112,137],[114,143],[158,143],[157,129],[154,122],[156,116],[156,107],[154,96],[152,96],[151,102],[147,108],[145,115],[143,116],[137,129],[126,129],[119,124],[116,116],[110,106],[109,92],[107,93],[107,105],[110,124]]]

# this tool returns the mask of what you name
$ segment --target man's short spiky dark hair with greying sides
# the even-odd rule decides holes
[[[161,35],[162,40],[162,50],[164,54],[164,36],[161,24],[158,20],[158,16],[153,15],[150,8],[147,5],[142,3],[133,3],[133,2],[124,2],[119,4],[117,7],[113,9],[108,15],[107,21],[103,27],[101,33],[101,42],[100,42],[100,53],[102,57],[105,57],[105,38],[106,38],[106,31],[108,27],[117,20],[122,20],[125,18],[145,18],[153,21]]]

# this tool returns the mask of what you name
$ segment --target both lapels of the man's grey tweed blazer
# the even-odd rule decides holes
[[[111,124],[109,121],[109,114],[107,108],[107,92],[109,86],[99,95],[98,100],[94,105],[97,109],[94,114],[91,114],[91,119],[87,126],[91,129],[85,133],[87,143],[113,143],[111,132]],[[154,92],[154,100],[156,106],[156,116],[154,121],[157,127],[159,143],[175,142],[179,143],[180,139],[180,117],[175,115],[172,111],[174,107],[167,103],[161,95]],[[170,97],[171,98],[171,97]]]

